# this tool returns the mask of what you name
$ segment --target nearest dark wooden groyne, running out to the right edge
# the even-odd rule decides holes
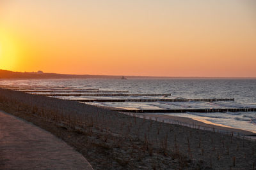
[[[256,108],[220,108],[220,109],[184,109],[184,110],[115,110],[121,112],[132,113],[186,113],[186,112],[198,112],[198,113],[214,113],[214,112],[249,112],[256,111]]]

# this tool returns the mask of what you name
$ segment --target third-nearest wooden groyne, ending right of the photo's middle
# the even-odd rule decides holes
[[[41,96],[171,96],[171,94],[38,94]]]

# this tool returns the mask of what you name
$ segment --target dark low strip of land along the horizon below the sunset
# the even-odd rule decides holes
[[[125,76],[125,75],[122,75]],[[14,72],[0,69],[0,79],[61,79],[61,78],[116,78],[120,79],[122,76],[113,75],[90,75],[90,74],[58,74],[58,73],[44,73],[37,72]],[[182,77],[182,76],[125,76],[125,78],[148,78],[148,79],[168,79],[168,78],[198,78],[198,79],[255,79],[256,77]]]

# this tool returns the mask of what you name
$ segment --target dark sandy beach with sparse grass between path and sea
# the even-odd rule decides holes
[[[253,135],[249,131],[167,115],[140,118],[4,89],[0,108],[63,139],[93,169],[255,168],[256,143],[244,138]]]

